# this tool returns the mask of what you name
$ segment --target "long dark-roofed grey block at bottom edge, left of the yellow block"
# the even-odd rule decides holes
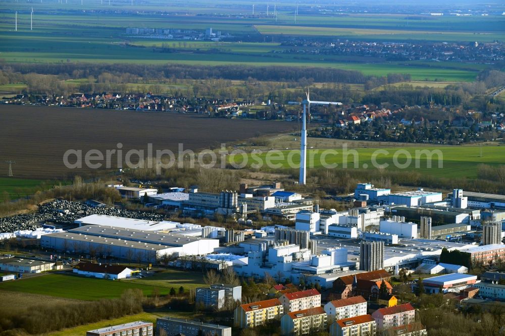
[[[165,316],[156,319],[156,334],[231,336],[231,328],[225,325]]]

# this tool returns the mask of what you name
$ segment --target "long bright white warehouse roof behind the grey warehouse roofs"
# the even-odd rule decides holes
[[[116,217],[100,214],[92,214],[86,217],[76,219],[74,221],[79,226],[84,225],[102,225],[131,230],[142,231],[162,231],[175,229],[177,222],[175,221],[154,221],[135,218]]]

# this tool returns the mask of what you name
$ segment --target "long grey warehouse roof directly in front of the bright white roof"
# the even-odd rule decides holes
[[[71,229],[69,234],[83,234],[94,237],[114,238],[142,243],[161,244],[165,246],[183,246],[201,240],[199,237],[189,237],[177,234],[160,234],[150,231],[128,230],[99,225],[87,225]]]

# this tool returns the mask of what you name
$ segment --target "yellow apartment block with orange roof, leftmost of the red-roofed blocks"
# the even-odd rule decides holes
[[[240,328],[255,327],[279,319],[283,313],[279,299],[247,303],[235,309],[234,325]]]

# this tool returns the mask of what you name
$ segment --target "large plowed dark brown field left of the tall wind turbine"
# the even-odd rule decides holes
[[[141,113],[107,109],[0,105],[0,176],[15,160],[19,178],[70,178],[84,174],[63,164],[68,149],[117,149],[123,153],[153,144],[153,150],[199,150],[257,136],[290,131],[291,123],[211,119],[199,115]],[[147,156],[147,154],[145,154]],[[113,156],[113,160],[116,156]],[[123,154],[124,157],[124,154]],[[114,161],[113,161],[114,162]]]

